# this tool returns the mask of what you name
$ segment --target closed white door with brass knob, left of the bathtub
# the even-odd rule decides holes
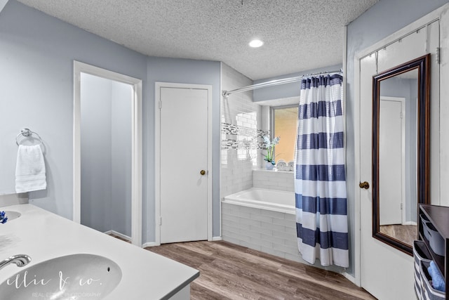
[[[161,243],[207,240],[208,90],[160,95]]]

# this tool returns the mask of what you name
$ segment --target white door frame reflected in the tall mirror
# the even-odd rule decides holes
[[[401,103],[401,224],[406,225],[406,98],[380,96],[380,101],[395,101]]]

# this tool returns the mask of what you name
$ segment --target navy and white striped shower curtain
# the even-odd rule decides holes
[[[295,149],[297,244],[302,259],[349,266],[342,76],[301,81]]]

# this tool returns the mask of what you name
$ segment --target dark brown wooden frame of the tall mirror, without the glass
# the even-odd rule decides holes
[[[379,210],[379,125],[380,83],[398,74],[417,69],[417,206],[429,204],[430,137],[430,54],[410,60],[373,76],[373,237],[413,256],[412,245],[380,233]],[[418,208],[417,208],[418,209]],[[418,220],[418,219],[417,219]],[[417,237],[416,237],[417,238]]]

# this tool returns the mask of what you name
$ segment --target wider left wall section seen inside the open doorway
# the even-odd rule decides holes
[[[111,81],[81,73],[81,224],[111,230]]]

